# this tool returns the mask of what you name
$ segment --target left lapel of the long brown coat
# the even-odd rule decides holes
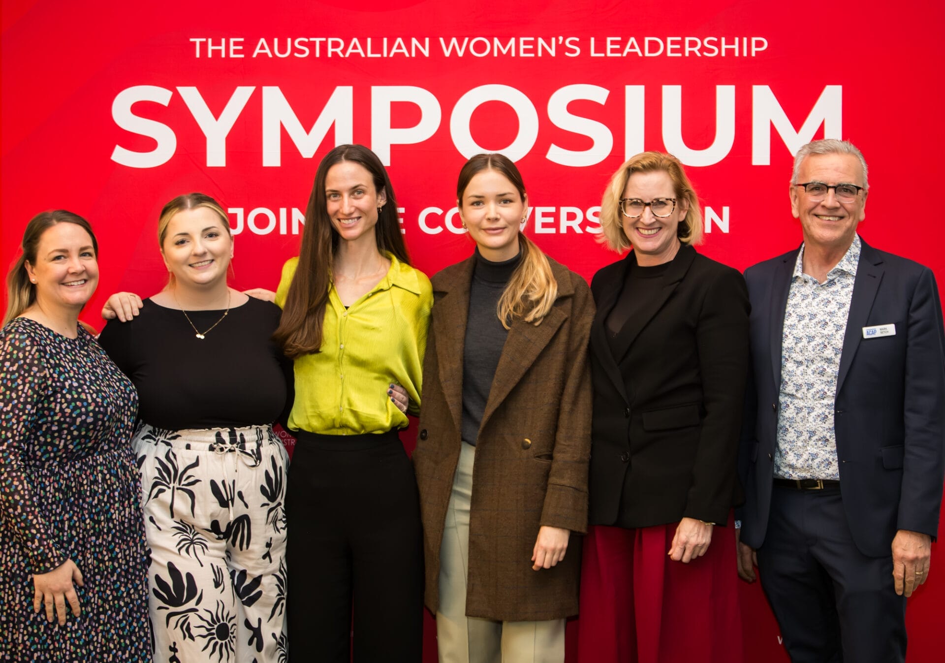
[[[463,349],[473,264],[469,258],[434,277],[434,294],[439,296],[432,314],[439,383],[457,431],[463,422]]]

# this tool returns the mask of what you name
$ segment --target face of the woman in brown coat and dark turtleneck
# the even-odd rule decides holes
[[[511,260],[519,253],[519,228],[528,213],[528,196],[498,171],[480,171],[456,201],[459,216],[483,258]]]

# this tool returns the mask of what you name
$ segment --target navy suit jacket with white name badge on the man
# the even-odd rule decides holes
[[[799,249],[745,272],[751,302],[751,374],[739,474],[742,541],[765,541],[781,388],[782,331]],[[863,337],[894,324],[895,335]],[[840,491],[853,541],[890,554],[897,530],[935,538],[945,471],[945,332],[928,267],[879,251],[860,253],[840,355],[833,425]]]

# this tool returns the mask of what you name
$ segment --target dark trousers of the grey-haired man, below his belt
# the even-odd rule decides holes
[[[839,487],[774,486],[758,570],[795,663],[905,659],[905,597],[893,588],[892,550],[859,551]]]

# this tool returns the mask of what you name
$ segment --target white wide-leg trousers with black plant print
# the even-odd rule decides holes
[[[270,426],[133,440],[155,663],[280,663],[288,455]]]

